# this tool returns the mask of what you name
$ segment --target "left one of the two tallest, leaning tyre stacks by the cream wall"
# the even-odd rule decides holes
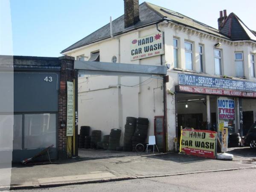
[[[134,135],[134,131],[136,128],[136,121],[137,121],[137,118],[135,117],[126,117],[124,147],[123,147],[124,151],[132,150],[131,138]]]

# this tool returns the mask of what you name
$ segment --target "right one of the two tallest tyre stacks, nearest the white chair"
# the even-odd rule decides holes
[[[139,143],[144,144],[148,135],[148,119],[139,117],[137,119],[136,129],[132,140],[132,151],[136,151],[136,145]]]

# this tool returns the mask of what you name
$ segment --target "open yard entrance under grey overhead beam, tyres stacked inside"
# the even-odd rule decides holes
[[[74,69],[79,77],[74,155],[84,148],[132,151],[132,136],[139,134],[145,143],[155,135],[154,117],[165,116],[165,66],[75,61]]]

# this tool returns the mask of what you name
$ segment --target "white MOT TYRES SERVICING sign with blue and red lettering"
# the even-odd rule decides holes
[[[218,119],[235,119],[235,101],[225,97],[218,98]],[[221,130],[219,130],[221,131]]]

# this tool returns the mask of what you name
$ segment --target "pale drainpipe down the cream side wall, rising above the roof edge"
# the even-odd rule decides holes
[[[113,25],[112,17],[110,17],[110,36],[113,39],[118,40],[118,62],[121,62],[121,50],[120,50],[120,38],[113,36]],[[122,96],[121,96],[121,77],[118,76],[117,79],[117,88],[118,88],[118,116],[119,116],[119,128],[122,128]]]

